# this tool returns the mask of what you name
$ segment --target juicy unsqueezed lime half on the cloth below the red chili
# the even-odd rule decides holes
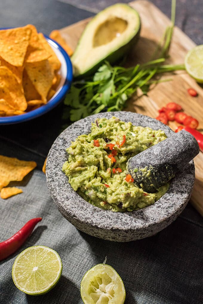
[[[28,295],[41,295],[53,288],[62,273],[58,253],[45,246],[33,246],[23,250],[12,268],[13,282]]]

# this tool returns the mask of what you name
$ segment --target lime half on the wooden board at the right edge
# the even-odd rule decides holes
[[[203,83],[203,45],[198,45],[187,53],[185,68],[197,82]]]

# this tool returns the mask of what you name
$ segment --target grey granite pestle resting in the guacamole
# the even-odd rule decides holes
[[[197,140],[189,132],[181,130],[131,157],[127,162],[127,171],[139,188],[153,193],[198,153]]]

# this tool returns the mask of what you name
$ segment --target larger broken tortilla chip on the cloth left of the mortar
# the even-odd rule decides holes
[[[0,155],[0,190],[10,181],[22,181],[36,166],[35,161],[20,161],[14,157]]]

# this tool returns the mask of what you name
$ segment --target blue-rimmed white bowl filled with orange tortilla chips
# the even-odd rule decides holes
[[[65,97],[72,64],[65,50],[33,25],[0,29],[0,124],[45,114]]]

